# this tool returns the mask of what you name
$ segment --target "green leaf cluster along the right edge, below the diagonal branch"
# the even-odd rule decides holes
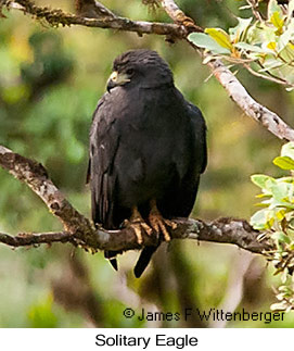
[[[261,189],[257,198],[263,201],[251,218],[255,229],[267,230],[276,242],[277,249],[268,253],[277,271],[281,273],[282,285],[278,289],[273,310],[294,309],[294,142],[282,147],[281,155],[273,160],[273,164],[291,172],[290,176],[272,178],[258,174],[252,176],[252,181]]]

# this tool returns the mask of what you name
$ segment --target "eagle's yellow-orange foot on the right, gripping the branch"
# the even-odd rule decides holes
[[[151,211],[149,214],[149,223],[151,227],[155,230],[157,236],[161,233],[164,236],[165,241],[170,241],[170,235],[168,233],[168,227],[171,229],[177,228],[177,224],[170,220],[166,220],[163,217],[161,212],[158,211],[155,201],[151,202]]]

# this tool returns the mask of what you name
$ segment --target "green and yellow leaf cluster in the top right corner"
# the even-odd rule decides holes
[[[245,9],[243,7],[241,9]],[[287,8],[277,0],[268,2],[267,12],[256,17],[238,17],[238,25],[228,33],[220,28],[206,28],[190,39],[205,48],[213,60],[221,58],[230,64],[240,64],[251,73],[294,89],[294,0]],[[214,43],[212,42],[212,39]],[[206,59],[207,60],[207,59]]]

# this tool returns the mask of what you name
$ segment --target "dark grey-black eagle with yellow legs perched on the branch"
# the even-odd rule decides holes
[[[204,118],[175,87],[167,63],[145,49],[119,55],[90,130],[94,224],[117,229],[127,220],[139,243],[143,231],[168,241],[170,220],[192,211],[206,162]],[[136,277],[156,248],[143,248]],[[116,254],[105,251],[117,269]]]

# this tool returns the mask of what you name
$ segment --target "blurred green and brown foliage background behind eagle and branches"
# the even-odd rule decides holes
[[[74,11],[73,1],[36,1]],[[119,15],[169,21],[140,0],[105,0]],[[181,0],[202,26],[235,25],[241,1]],[[133,48],[157,50],[168,61],[177,87],[203,111],[208,126],[208,168],[192,216],[250,218],[258,189],[254,173],[279,176],[271,163],[281,141],[244,116],[184,42],[79,26],[49,28],[20,11],[0,18],[0,143],[41,162],[53,181],[85,215],[85,185],[92,112],[105,89],[112,62]],[[293,93],[250,76],[238,76],[251,95],[293,125]],[[26,186],[0,170],[0,230],[59,230],[61,225]],[[229,245],[172,241],[162,245],[141,279],[132,267],[138,252],[119,256],[115,273],[103,253],[91,255],[69,245],[12,250],[0,246],[0,327],[292,327],[284,322],[140,322],[126,319],[126,306],[140,312],[182,312],[186,308],[269,311],[274,302],[273,269],[263,258]]]

